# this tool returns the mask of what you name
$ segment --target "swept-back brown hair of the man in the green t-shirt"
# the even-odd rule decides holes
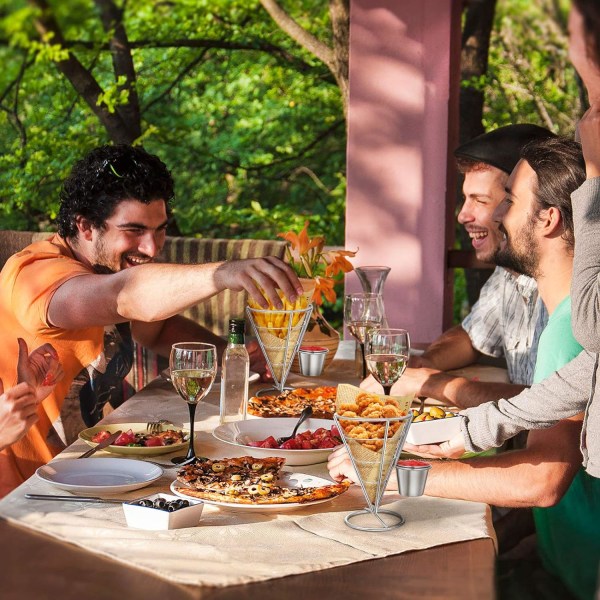
[[[562,238],[570,248],[575,245],[571,194],[585,181],[585,162],[581,144],[567,138],[548,138],[530,142],[521,150],[537,175],[534,190],[537,210],[555,207],[559,210],[564,232]]]

